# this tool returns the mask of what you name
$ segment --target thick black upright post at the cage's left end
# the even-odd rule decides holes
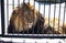
[[[1,28],[2,28],[2,36],[4,35],[4,0],[1,0]]]

